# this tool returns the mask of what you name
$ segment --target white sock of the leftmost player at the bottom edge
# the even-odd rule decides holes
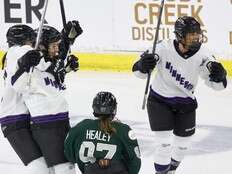
[[[44,157],[40,157],[30,162],[27,166],[27,170],[29,173],[33,174],[49,174],[49,169]]]

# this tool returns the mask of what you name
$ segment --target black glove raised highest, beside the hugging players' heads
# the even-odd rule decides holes
[[[69,21],[66,25],[66,30],[63,29],[62,33],[70,44],[73,44],[75,39],[82,34],[83,30],[78,21]]]

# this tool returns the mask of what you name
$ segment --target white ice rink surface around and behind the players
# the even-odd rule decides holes
[[[155,173],[153,144],[146,111],[141,109],[145,80],[131,73],[77,72],[68,75],[67,100],[72,125],[92,116],[92,99],[111,91],[118,100],[117,117],[136,132],[142,153],[141,174]],[[176,174],[230,174],[232,160],[232,84],[213,91],[199,81],[196,96],[197,130],[190,151]],[[26,169],[0,133],[0,173],[26,174]],[[79,170],[77,169],[79,174]]]

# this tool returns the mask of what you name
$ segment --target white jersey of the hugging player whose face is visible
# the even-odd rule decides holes
[[[24,73],[13,85],[16,91],[22,93],[32,117],[68,112],[68,103],[64,97],[65,86],[58,84],[54,76],[45,71],[50,64],[41,59],[31,75]],[[28,78],[31,81],[29,86]]]

